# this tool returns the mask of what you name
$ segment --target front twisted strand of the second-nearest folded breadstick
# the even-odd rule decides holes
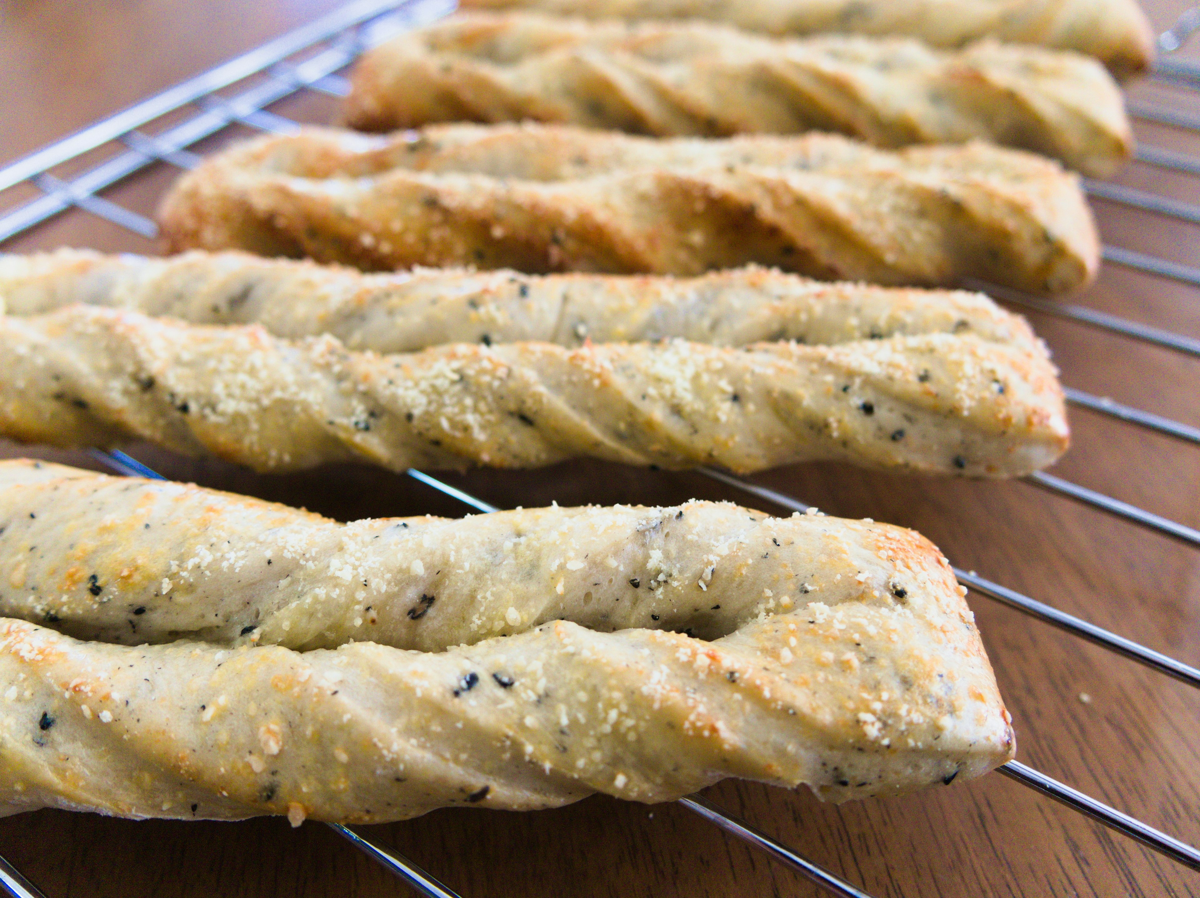
[[[744,349],[454,344],[349,352],[258,326],[72,306],[0,318],[0,434],[128,438],[259,470],[528,468],[592,456],[755,471],[806,459],[1012,476],[1067,446],[1044,350],[931,333]]]

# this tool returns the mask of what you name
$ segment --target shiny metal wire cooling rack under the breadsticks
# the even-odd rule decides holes
[[[277,115],[266,107],[301,91],[344,96],[348,91],[348,84],[338,73],[365,49],[400,31],[442,18],[452,12],[454,8],[455,0],[356,0],[349,2],[324,18],[18,159],[0,169],[0,193],[29,183],[37,188],[40,195],[13,205],[0,215],[0,243],[70,209],[83,210],[144,237],[157,236],[157,225],[150,218],[106,199],[101,195],[101,191],[130,175],[161,163],[179,169],[194,168],[200,162],[200,156],[188,147],[235,123],[260,132],[294,133],[300,127],[298,122]],[[1198,30],[1200,30],[1200,6],[1186,11],[1171,29],[1159,35],[1158,60],[1148,77],[1200,91],[1200,64],[1170,55]],[[296,55],[305,55],[305,58],[300,62],[289,61],[289,58]],[[253,86],[239,94],[228,97],[217,94],[217,91],[248,79],[254,79]],[[1200,115],[1198,114],[1181,113],[1176,109],[1145,102],[1130,101],[1127,106],[1134,117],[1200,132]],[[151,135],[145,132],[146,126],[188,108],[199,112],[179,121],[172,117],[174,123],[157,134]],[[72,175],[68,180],[50,174],[50,169],[113,141],[124,145],[124,151]],[[1200,156],[1152,145],[1140,145],[1135,158],[1158,168],[1200,175]],[[1200,223],[1200,205],[1123,185],[1090,179],[1085,179],[1082,183],[1084,189],[1091,197],[1181,222]],[[1103,258],[1105,263],[1111,265],[1200,288],[1200,267],[1118,246],[1104,246]],[[1046,301],[990,283],[970,281],[964,287],[984,290],[1012,305],[1066,318],[1088,327],[1109,331],[1183,355],[1200,357],[1200,339],[1193,337],[1172,333],[1084,306]],[[1200,428],[1198,427],[1069,386],[1064,390],[1070,404],[1109,415],[1135,427],[1200,445]],[[156,471],[124,452],[94,450],[91,454],[119,474],[161,478]],[[701,469],[700,472],[727,487],[790,511],[804,512],[809,508],[809,505],[796,496],[734,477],[724,471],[706,468]],[[475,511],[497,511],[496,506],[422,471],[410,469],[407,474]],[[1182,523],[1153,514],[1138,506],[1049,474],[1037,472],[1028,475],[1025,480],[1042,489],[1084,502],[1200,548],[1200,531]],[[1200,687],[1200,669],[979,577],[973,571],[955,567],[954,574],[962,585],[986,598],[1022,611],[1044,623],[1124,656],[1188,686]],[[997,769],[997,772],[1181,864],[1200,870],[1200,850],[1064,783],[1018,761],[1004,764]],[[870,898],[866,892],[792,851],[703,796],[691,795],[680,798],[678,803],[715,824],[731,836],[762,850],[775,861],[809,878],[833,894],[846,898]],[[458,898],[456,892],[438,882],[431,874],[396,851],[376,845],[341,824],[326,825],[408,882],[416,892],[431,898]],[[2,857],[0,857],[0,888],[17,898],[46,898],[32,882]]]

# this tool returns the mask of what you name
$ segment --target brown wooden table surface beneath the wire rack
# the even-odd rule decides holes
[[[330,0],[68,0],[0,4],[0,163],[308,22]],[[1180,0],[1151,4],[1169,25]],[[1196,41],[1200,44],[1200,38]],[[1200,110],[1200,95],[1150,83],[1130,96]],[[277,109],[310,121],[328,98]],[[1200,137],[1139,122],[1141,139],[1200,153]],[[109,197],[152,210],[161,167]],[[1200,201],[1200,179],[1134,164],[1118,179]],[[20,195],[10,192],[6,204]],[[1097,204],[1106,241],[1196,264],[1200,230]],[[71,212],[11,241],[152,251]],[[1200,336],[1200,290],[1105,266],[1079,300]],[[1034,326],[1066,384],[1200,424],[1200,361],[1045,315]],[[2,360],[0,360],[2,363]],[[1055,474],[1200,525],[1200,450],[1072,410],[1074,447]],[[338,518],[463,507],[410,480],[365,468],[266,477],[131,450],[170,477],[304,505]],[[83,453],[0,444],[95,466]],[[449,477],[500,506],[676,502],[744,495],[698,475],[571,464]],[[917,528],[958,565],[1200,664],[1200,552],[1024,482],[932,481],[814,464],[760,482],[845,517]],[[778,511],[758,502],[767,511]],[[989,599],[971,595],[1012,710],[1019,758],[1192,844],[1200,844],[1200,695]],[[708,795],[812,860],[883,896],[1189,896],[1200,875],[998,775],[905,798],[841,807],[805,791],[727,782]],[[499,896],[812,896],[814,886],[678,806],[593,797],[538,813],[448,809],[367,827],[466,898]],[[0,821],[0,855],[49,898],[68,896],[403,896],[407,888],[328,828],[286,820],[131,822],[41,810]]]

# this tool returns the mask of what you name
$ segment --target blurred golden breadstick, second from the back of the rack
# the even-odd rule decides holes
[[[1098,176],[1133,147],[1116,83],[1073,53],[522,13],[455,16],[370,50],[346,119],[366,131],[533,119],[659,135],[836,131],[880,146],[985,139]]]

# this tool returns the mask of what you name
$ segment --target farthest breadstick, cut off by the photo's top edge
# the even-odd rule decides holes
[[[463,0],[474,10],[536,10],[589,19],[709,19],[770,35],[908,35],[932,47],[982,37],[1097,56],[1118,74],[1146,70],[1154,35],[1135,0]]]

